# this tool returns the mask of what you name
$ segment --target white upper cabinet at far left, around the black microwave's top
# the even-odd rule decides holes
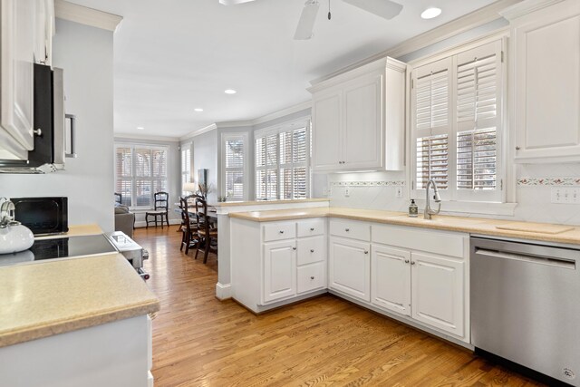
[[[34,62],[50,55],[53,1],[1,0],[0,15],[0,159],[26,160],[34,149]]]

